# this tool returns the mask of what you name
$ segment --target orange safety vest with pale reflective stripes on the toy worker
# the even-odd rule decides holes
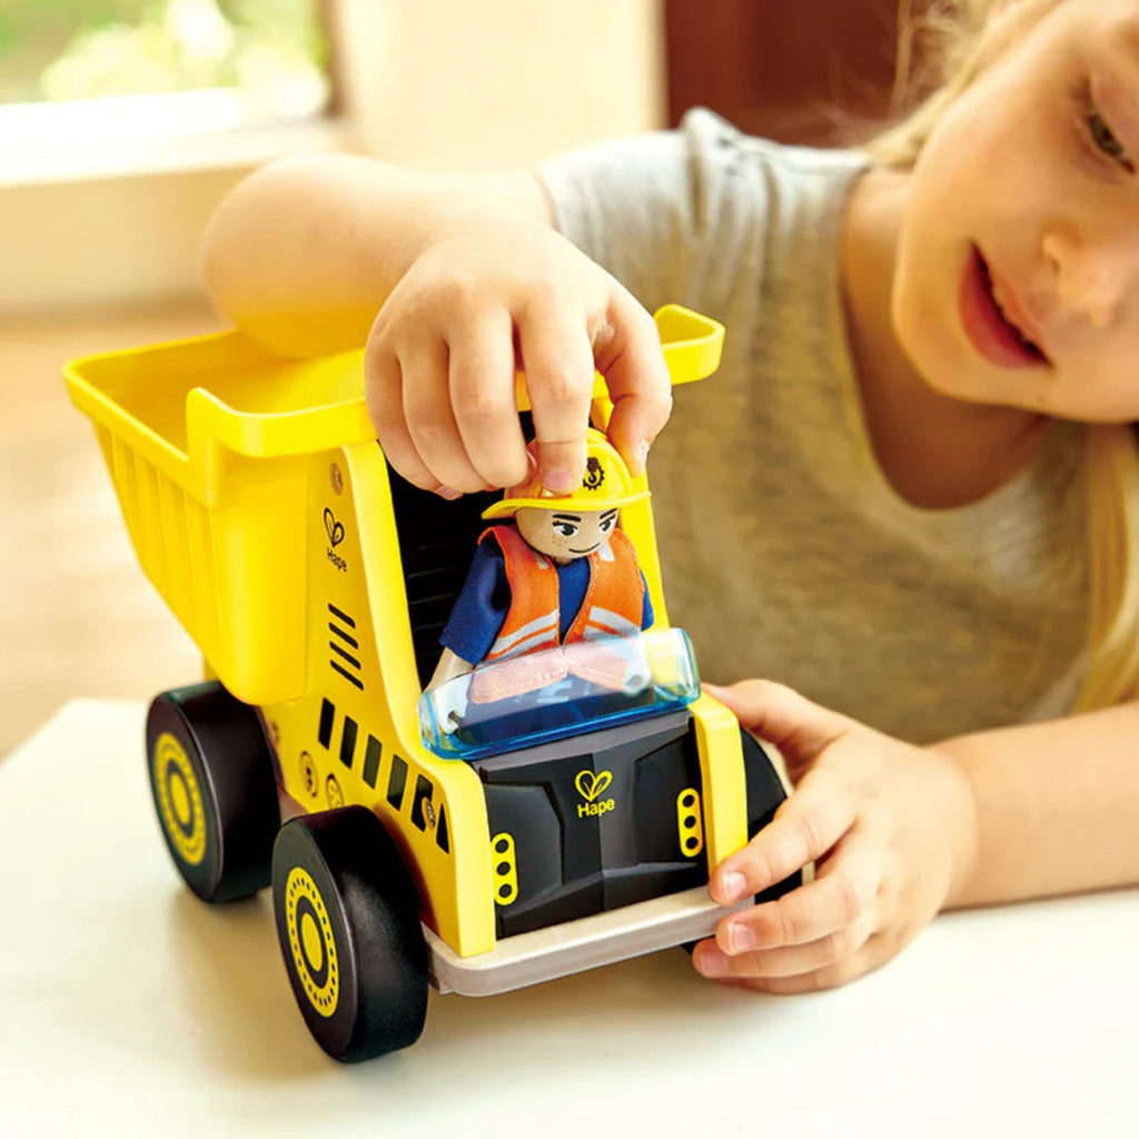
[[[490,652],[475,669],[469,698],[484,704],[521,696],[563,680],[570,672],[620,690],[629,662],[616,647],[599,644],[596,652],[579,648],[570,657],[550,652],[563,644],[558,639],[560,607],[555,564],[530,546],[514,525],[490,526],[478,541],[487,535],[502,550],[510,607]],[[589,585],[564,644],[638,633],[644,606],[645,580],[633,543],[615,530],[607,547],[589,555]],[[543,650],[541,658],[526,659]]]

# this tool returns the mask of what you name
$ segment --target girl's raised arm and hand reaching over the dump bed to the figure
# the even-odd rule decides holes
[[[526,477],[516,363],[552,490],[584,469],[595,367],[615,402],[609,436],[634,473],[671,410],[652,317],[551,228],[528,173],[451,178],[349,155],[286,159],[222,203],[203,264],[218,308],[274,351],[367,344],[385,453],[427,490]]]

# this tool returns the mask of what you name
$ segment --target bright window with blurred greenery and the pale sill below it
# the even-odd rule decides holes
[[[0,309],[194,292],[233,181],[343,145],[331,2],[2,0]]]

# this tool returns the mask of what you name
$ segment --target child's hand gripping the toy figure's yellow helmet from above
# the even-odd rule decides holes
[[[434,235],[368,337],[368,408],[395,469],[452,498],[525,481],[516,364],[548,490],[581,482],[595,367],[615,404],[609,437],[644,469],[672,409],[653,318],[559,233],[497,215]]]

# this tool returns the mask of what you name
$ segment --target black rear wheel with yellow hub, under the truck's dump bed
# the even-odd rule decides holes
[[[216,681],[175,688],[151,702],[146,744],[158,823],[190,890],[228,902],[268,886],[280,809],[257,713]]]

